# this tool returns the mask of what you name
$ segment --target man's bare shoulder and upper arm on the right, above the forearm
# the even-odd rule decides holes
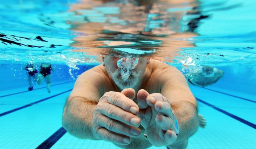
[[[151,86],[157,85],[159,92],[171,102],[188,101],[196,105],[185,76],[177,68],[158,60],[151,60],[150,63],[152,67]]]

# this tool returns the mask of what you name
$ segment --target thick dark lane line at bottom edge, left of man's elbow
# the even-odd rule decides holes
[[[55,133],[53,133],[49,138],[47,138],[43,143],[41,143],[36,149],[50,149],[67,131],[61,127]]]

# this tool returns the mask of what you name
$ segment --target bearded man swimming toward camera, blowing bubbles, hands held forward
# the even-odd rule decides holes
[[[196,99],[175,67],[146,57],[105,56],[76,80],[62,124],[75,137],[123,148],[180,149],[198,129],[197,114]]]

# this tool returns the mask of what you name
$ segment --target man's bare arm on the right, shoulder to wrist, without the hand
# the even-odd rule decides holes
[[[196,133],[199,122],[197,118],[197,103],[190,91],[183,74],[176,68],[170,68],[169,73],[163,76],[161,94],[171,103],[172,112],[176,116],[180,128],[178,143]]]

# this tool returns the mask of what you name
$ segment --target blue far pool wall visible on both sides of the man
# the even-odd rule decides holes
[[[52,83],[59,81],[75,81],[77,76],[96,65],[78,65],[79,70],[72,69],[69,74],[69,67],[65,64],[57,64],[55,72],[52,73]],[[0,90],[28,87],[27,71],[22,70],[21,64],[0,64]],[[37,66],[39,68],[39,66]],[[256,95],[256,69],[250,66],[226,66],[218,67],[224,71],[224,76],[215,84],[208,87],[233,90]],[[35,83],[33,83],[35,84]],[[45,82],[42,83],[45,86]]]

